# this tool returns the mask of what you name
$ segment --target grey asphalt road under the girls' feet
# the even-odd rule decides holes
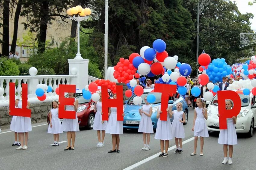
[[[33,131],[29,133],[27,150],[15,150],[11,146],[14,142],[14,132],[2,130],[0,133],[0,169],[5,170],[37,170],[37,169],[125,169],[140,161],[144,162],[134,169],[255,169],[256,161],[256,133],[252,138],[238,135],[238,145],[234,145],[233,165],[222,165],[223,146],[217,144],[218,133],[210,133],[204,140],[204,156],[190,156],[193,151],[193,110],[189,109],[188,124],[184,125],[185,139],[189,140],[183,145],[183,154],[174,154],[169,151],[166,158],[155,157],[160,152],[160,142],[151,134],[151,150],[142,151],[142,134],[137,130],[128,130],[120,135],[120,153],[108,153],[112,148],[111,135],[106,134],[104,147],[96,147],[97,133],[95,130],[80,128],[76,133],[75,150],[64,151],[67,142],[53,147],[53,135],[47,133],[48,125],[45,123],[33,124]],[[42,126],[40,126],[42,125]],[[67,141],[66,133],[60,135],[60,142]],[[170,146],[175,145],[174,140]],[[198,152],[200,151],[198,140]],[[173,147],[176,148],[176,147]],[[153,156],[153,158],[152,158]],[[148,162],[145,159],[151,157]],[[137,165],[137,164],[136,164]]]

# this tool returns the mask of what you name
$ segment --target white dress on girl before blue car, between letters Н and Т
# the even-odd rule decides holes
[[[149,114],[149,111],[150,111],[151,107],[152,107],[151,105],[143,105],[142,110]],[[141,116],[141,119],[140,119],[138,132],[154,133],[151,117],[148,117],[144,113],[142,113],[142,116]]]

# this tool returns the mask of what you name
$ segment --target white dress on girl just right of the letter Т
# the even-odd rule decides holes
[[[183,113],[183,111],[173,110],[172,133],[175,138],[185,138],[183,123],[180,122],[183,118]]]

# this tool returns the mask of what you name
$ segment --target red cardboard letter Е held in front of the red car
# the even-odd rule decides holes
[[[59,85],[59,118],[76,119],[76,111],[65,110],[65,105],[74,106],[75,102],[73,98],[65,98],[65,92],[76,93],[76,85]]]

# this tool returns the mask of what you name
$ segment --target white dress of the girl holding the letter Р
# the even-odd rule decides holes
[[[236,127],[232,118],[227,118],[227,129],[221,129],[218,139],[219,144],[236,145]]]

